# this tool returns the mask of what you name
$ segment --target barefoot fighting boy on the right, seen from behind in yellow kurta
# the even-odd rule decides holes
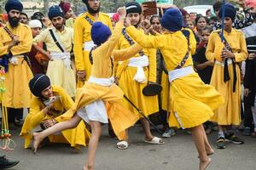
[[[224,99],[209,85],[204,84],[193,70],[191,53],[195,52],[193,32],[185,30],[183,35],[183,16],[177,8],[170,8],[161,19],[166,29],[160,36],[146,36],[125,20],[126,31],[143,48],[158,48],[166,62],[170,85],[171,111],[170,127],[190,128],[199,153],[200,170],[211,163],[208,155],[213,154],[211,145],[202,126],[207,122]],[[188,39],[186,38],[188,37]],[[191,52],[190,52],[191,51]]]

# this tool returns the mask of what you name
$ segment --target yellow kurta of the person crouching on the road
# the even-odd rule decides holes
[[[60,100],[55,101],[53,105],[55,112],[58,113],[55,113],[54,115],[44,115],[44,103],[36,97],[32,99],[30,111],[26,116],[20,133],[20,136],[25,139],[25,148],[27,148],[31,143],[32,129],[37,127],[41,122],[49,119],[55,119],[57,122],[63,122],[73,116],[68,112],[73,105],[73,100],[68,96],[67,92],[65,92],[63,88],[57,86],[52,86],[52,88],[54,95],[60,96]],[[84,122],[81,121],[77,127],[62,131],[61,135],[50,135],[49,141],[52,143],[68,143],[72,147],[78,147],[79,145],[85,146],[88,144],[89,138],[90,133],[85,128]]]

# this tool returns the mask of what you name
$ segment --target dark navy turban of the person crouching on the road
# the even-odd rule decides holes
[[[45,88],[50,86],[49,77],[44,74],[37,74],[29,82],[29,88],[34,96],[43,98],[41,94]]]

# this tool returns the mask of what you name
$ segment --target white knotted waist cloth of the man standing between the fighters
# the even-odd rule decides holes
[[[142,82],[142,83],[147,82],[147,78],[143,71],[143,67],[148,66],[148,65],[149,65],[148,56],[146,56],[146,55],[129,59],[128,66],[137,67],[137,73],[133,77],[133,80],[135,80],[137,82]]]

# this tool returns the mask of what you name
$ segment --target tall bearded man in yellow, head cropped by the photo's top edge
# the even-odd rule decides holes
[[[101,21],[112,30],[112,23],[108,14],[100,12],[100,1],[83,0],[88,12],[76,18],[73,30],[73,52],[75,55],[75,66],[78,76],[78,87],[84,85],[90,77],[90,49],[94,46],[90,37],[90,28],[95,21]]]

